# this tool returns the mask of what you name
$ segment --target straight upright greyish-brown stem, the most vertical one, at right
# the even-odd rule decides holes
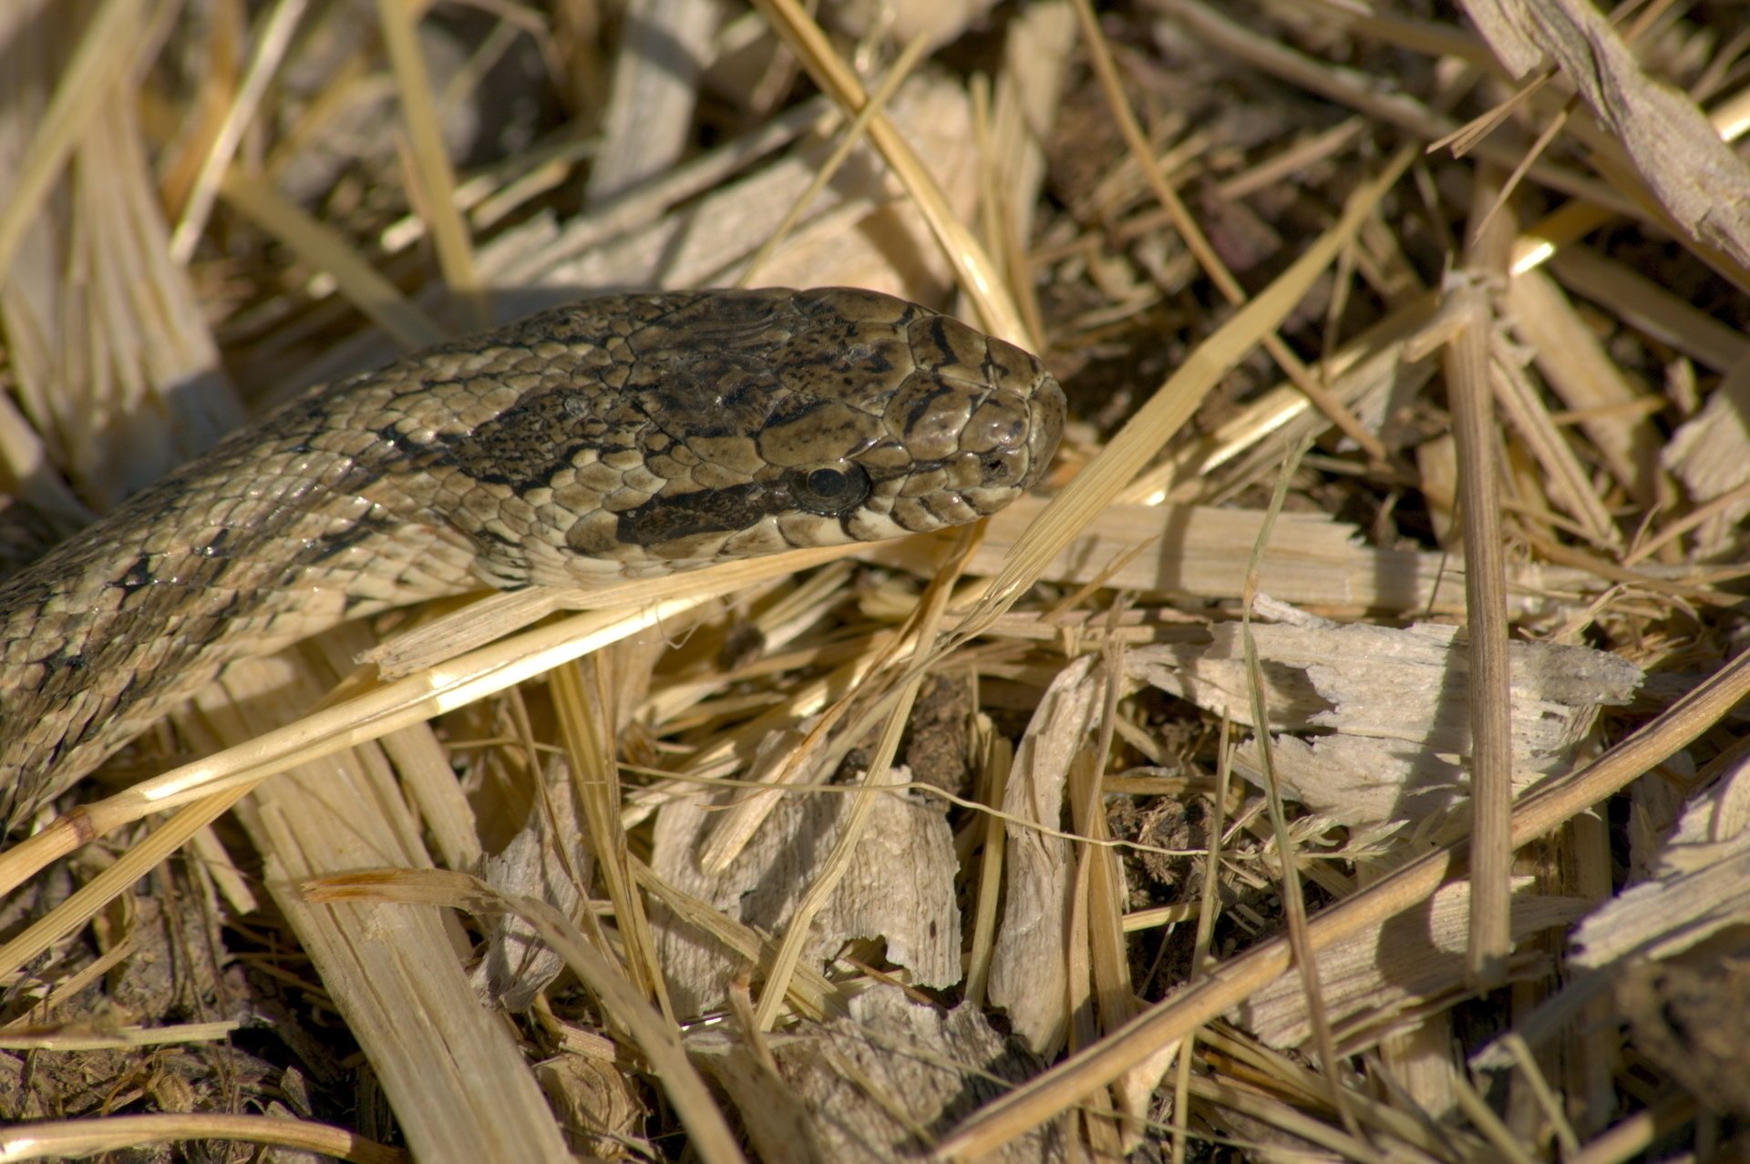
[[[1474,204],[1493,206],[1491,170],[1482,170]],[[1510,218],[1491,215],[1466,246],[1468,271],[1460,278],[1452,308],[1463,322],[1446,348],[1447,407],[1458,446],[1458,503],[1465,530],[1465,620],[1470,676],[1470,804],[1472,877],[1468,972],[1480,987],[1507,980],[1512,939],[1514,797],[1512,669],[1507,662],[1507,566],[1502,554],[1500,481],[1494,468],[1494,393],[1489,351],[1494,308],[1489,287],[1507,266]]]

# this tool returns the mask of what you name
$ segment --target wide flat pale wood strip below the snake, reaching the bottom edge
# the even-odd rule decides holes
[[[208,704],[208,717],[228,738],[271,727],[248,718],[259,720],[264,706],[322,694],[280,659],[233,666],[224,685],[229,699]],[[382,753],[366,745],[284,773],[240,814],[266,860],[268,890],[369,1056],[418,1157],[569,1161],[516,1040],[462,973],[453,921],[402,905],[312,905],[296,888],[357,869],[430,867]]]

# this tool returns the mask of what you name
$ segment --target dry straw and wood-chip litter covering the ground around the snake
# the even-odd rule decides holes
[[[0,9],[0,551],[609,287],[957,292],[1043,496],[233,666],[0,1159],[1743,1154],[1741,12],[634,7]]]

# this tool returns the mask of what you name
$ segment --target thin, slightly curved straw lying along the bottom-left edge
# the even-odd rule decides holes
[[[234,1140],[292,1148],[298,1154],[331,1155],[354,1164],[408,1164],[411,1157],[327,1124],[308,1124],[276,1115],[228,1115],[214,1112],[163,1115],[105,1115],[89,1120],[46,1120],[18,1124],[0,1133],[0,1162],[70,1161],[100,1152],[128,1152],[154,1143],[186,1140]]]

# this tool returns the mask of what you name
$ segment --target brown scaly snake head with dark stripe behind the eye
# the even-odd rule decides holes
[[[584,301],[523,332],[527,388],[446,449],[497,489],[476,509],[527,510],[476,538],[495,584],[976,521],[1040,481],[1064,426],[1036,357],[870,290]]]

